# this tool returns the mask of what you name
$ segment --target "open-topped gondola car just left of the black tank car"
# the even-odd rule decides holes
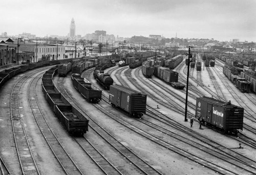
[[[72,74],[71,79],[74,87],[87,99],[90,103],[99,103],[101,100],[101,90],[98,90],[92,86],[89,81],[85,81],[81,78],[80,74]]]

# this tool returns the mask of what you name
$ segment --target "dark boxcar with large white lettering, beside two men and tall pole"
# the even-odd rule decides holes
[[[211,97],[197,98],[196,117],[224,133],[237,135],[243,130],[244,109]]]

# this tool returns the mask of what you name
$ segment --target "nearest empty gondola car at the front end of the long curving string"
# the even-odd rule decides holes
[[[89,120],[75,107],[58,105],[55,114],[70,134],[83,135],[88,131]]]

